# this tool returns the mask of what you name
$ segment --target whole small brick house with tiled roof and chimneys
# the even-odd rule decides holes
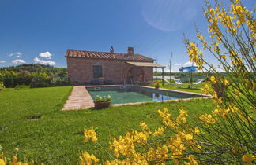
[[[67,71],[70,84],[84,85],[97,81],[123,84],[133,81],[152,83],[153,59],[134,53],[129,47],[127,53],[67,50]]]

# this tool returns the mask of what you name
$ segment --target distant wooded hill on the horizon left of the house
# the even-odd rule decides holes
[[[67,75],[66,68],[55,68],[53,66],[44,65],[44,64],[21,64],[17,66],[0,68],[0,72],[4,70],[13,71],[13,72],[21,72],[21,71],[44,72],[47,75],[55,75],[55,76]]]

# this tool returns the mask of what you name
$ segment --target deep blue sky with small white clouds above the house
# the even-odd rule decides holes
[[[213,0],[209,0],[213,2]],[[227,3],[228,0],[223,0]],[[244,0],[253,9],[252,0]],[[0,0],[0,68],[17,64],[66,67],[67,49],[140,53],[172,72],[190,64],[183,33],[207,24],[204,0]],[[205,54],[206,61],[217,64]],[[168,70],[168,67],[166,68]]]

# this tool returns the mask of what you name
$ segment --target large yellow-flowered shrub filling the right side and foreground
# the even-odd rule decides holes
[[[206,2],[205,18],[211,42],[197,29],[199,43],[183,41],[191,61],[209,72],[209,83],[201,89],[213,96],[214,109],[205,109],[197,119],[187,120],[189,109],[173,116],[167,108],[157,110],[161,127],[139,123],[114,138],[113,156],[105,164],[254,164],[256,147],[256,67],[254,12],[242,1],[231,0],[230,9]],[[232,41],[232,42],[230,42]],[[224,74],[205,61],[204,51],[213,54]],[[198,105],[200,106],[200,105]]]

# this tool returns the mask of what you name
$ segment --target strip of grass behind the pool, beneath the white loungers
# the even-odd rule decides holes
[[[161,80],[156,80],[156,82],[160,82],[160,88],[170,89],[170,90],[181,90],[186,92],[194,92],[194,93],[201,93],[203,94],[203,91],[200,89],[203,86],[205,86],[205,82],[201,83],[199,87],[193,86],[192,88],[188,88],[191,83],[183,83],[183,86],[170,86],[170,84],[164,82],[164,86],[162,85]],[[149,86],[155,86],[156,83],[150,83]]]

